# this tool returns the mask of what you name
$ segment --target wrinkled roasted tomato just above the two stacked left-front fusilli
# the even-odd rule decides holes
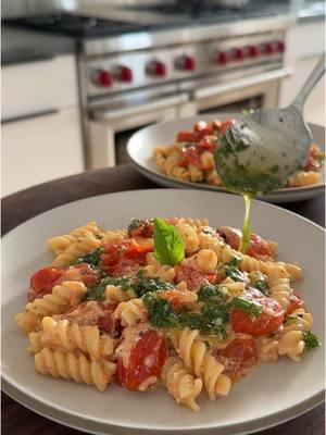
[[[78,325],[97,325],[101,332],[112,333],[115,327],[113,312],[116,307],[117,303],[88,300],[63,314],[53,315],[53,319],[57,321],[68,320]]]

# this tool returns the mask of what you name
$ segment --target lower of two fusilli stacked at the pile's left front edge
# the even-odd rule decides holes
[[[83,353],[64,352],[60,349],[43,348],[34,358],[39,373],[96,385],[100,391],[108,387],[116,368],[111,361],[88,359]]]

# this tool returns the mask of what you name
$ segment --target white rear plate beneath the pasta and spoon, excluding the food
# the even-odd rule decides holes
[[[239,114],[238,114],[239,115]],[[180,179],[163,174],[153,158],[153,151],[158,146],[168,146],[175,142],[178,132],[181,129],[191,129],[193,124],[199,121],[212,121],[218,119],[221,121],[236,119],[237,113],[216,113],[210,115],[199,115],[186,117],[183,120],[167,121],[149,127],[141,128],[135,133],[128,140],[127,152],[135,165],[147,178],[158,183],[160,186],[190,188],[211,191],[226,191],[224,187],[211,186],[206,183],[183,182]],[[325,149],[325,128],[319,125],[309,124],[314,141],[324,150]],[[322,170],[322,184],[308,187],[286,187],[265,195],[261,199],[268,202],[290,202],[300,201],[323,192],[325,190],[325,171]]]

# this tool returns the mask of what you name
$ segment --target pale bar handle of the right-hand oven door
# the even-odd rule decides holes
[[[193,91],[193,97],[195,99],[200,100],[203,98],[221,94],[231,92],[233,90],[242,89],[249,86],[262,85],[267,82],[278,80],[280,78],[288,77],[289,75],[292,74],[292,72],[293,72],[292,69],[290,67],[285,67],[276,71],[268,71],[266,73],[253,75],[251,77],[244,77],[238,80],[197,89]]]

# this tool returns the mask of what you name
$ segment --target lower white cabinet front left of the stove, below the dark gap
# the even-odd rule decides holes
[[[84,171],[77,109],[3,124],[2,196]]]

